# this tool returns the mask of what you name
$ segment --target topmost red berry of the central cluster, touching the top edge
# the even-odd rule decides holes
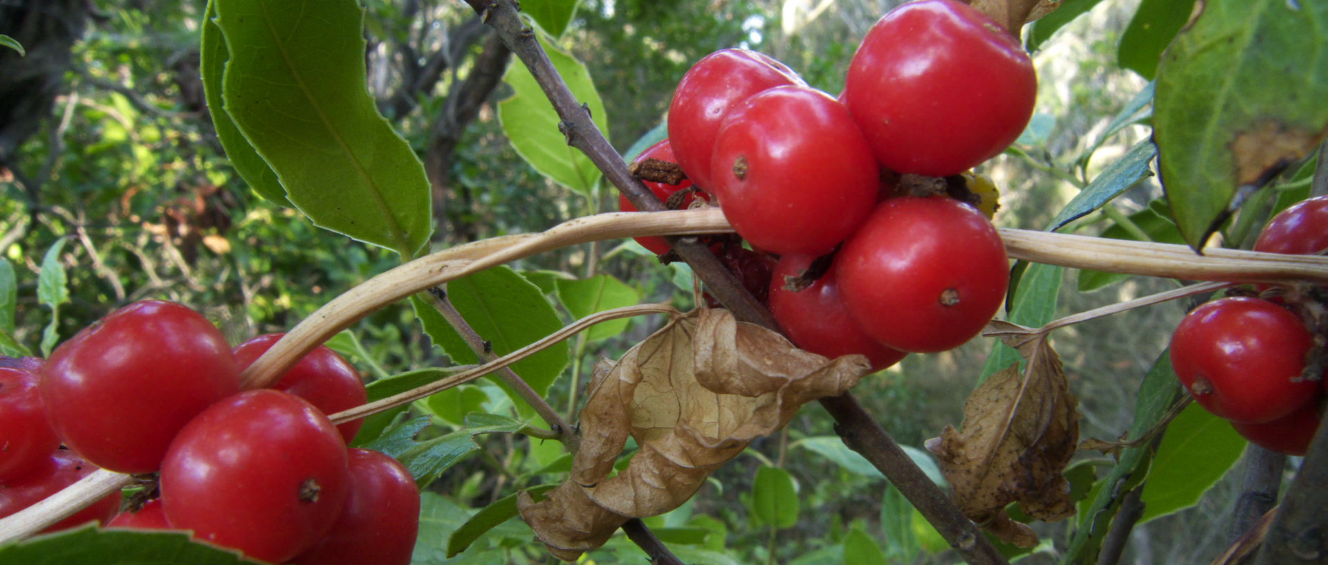
[[[955,0],[920,0],[867,32],[843,94],[880,164],[948,176],[1019,138],[1037,74],[1019,40],[987,16]]]

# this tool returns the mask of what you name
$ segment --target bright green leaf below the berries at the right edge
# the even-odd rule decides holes
[[[1198,504],[1236,464],[1246,440],[1231,423],[1191,403],[1166,428],[1143,484],[1139,524]]]

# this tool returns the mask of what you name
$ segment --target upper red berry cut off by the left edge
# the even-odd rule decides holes
[[[37,375],[0,367],[0,483],[32,472],[58,447],[41,408]]]

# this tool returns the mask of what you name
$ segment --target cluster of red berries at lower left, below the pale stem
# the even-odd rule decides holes
[[[240,371],[280,337],[232,350],[202,314],[141,301],[45,362],[0,365],[0,517],[101,467],[158,473],[159,497],[114,516],[117,492],[53,529],[190,531],[276,564],[410,562],[414,479],[390,456],[347,448],[361,420],[325,415],[365,402],[355,367],[320,346],[272,389],[240,390]]]

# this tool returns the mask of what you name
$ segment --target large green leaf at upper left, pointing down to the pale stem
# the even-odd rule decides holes
[[[227,45],[222,98],[315,224],[414,257],[429,243],[424,164],[365,78],[355,0],[214,0]]]

